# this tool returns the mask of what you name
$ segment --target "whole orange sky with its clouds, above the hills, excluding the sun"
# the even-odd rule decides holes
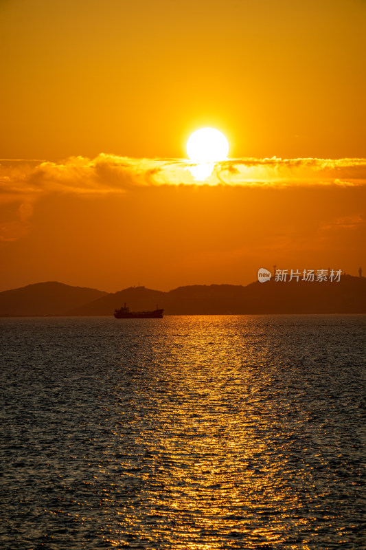
[[[0,291],[365,265],[363,0],[0,0]],[[198,180],[190,134],[229,159]]]

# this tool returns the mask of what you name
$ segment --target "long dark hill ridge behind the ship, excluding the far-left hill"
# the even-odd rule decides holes
[[[170,292],[130,287],[108,294],[70,315],[111,315],[127,303],[131,311],[164,309],[165,315],[366,313],[366,278],[344,275],[339,283],[251,283],[191,285]]]

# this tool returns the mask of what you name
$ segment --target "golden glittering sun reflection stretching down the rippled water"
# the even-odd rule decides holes
[[[152,417],[135,419],[135,444],[148,457],[137,497],[147,509],[136,520],[148,517],[151,544],[169,531],[174,547],[192,549],[222,548],[226,538],[227,548],[243,540],[269,547],[299,532],[305,544],[315,533],[326,487],[308,463],[305,411],[286,395],[273,341],[251,327],[243,338],[243,327],[235,328],[223,339],[222,324],[218,333],[210,325],[150,349],[161,371],[144,394]]]

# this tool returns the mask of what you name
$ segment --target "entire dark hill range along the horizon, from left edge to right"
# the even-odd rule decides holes
[[[339,283],[291,281],[241,285],[191,285],[161,292],[129,287],[114,294],[38,283],[0,292],[0,315],[110,316],[124,303],[131,311],[164,309],[165,315],[365,314],[366,278]]]

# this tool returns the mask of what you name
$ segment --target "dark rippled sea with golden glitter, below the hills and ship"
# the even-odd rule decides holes
[[[365,548],[365,335],[1,319],[1,549]]]

